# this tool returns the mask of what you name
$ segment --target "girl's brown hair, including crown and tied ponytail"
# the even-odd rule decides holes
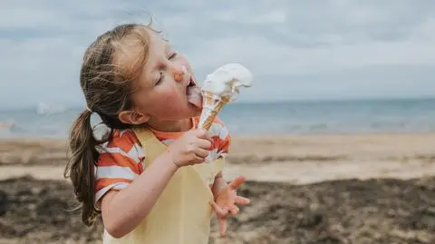
[[[76,199],[82,207],[82,221],[91,226],[100,211],[94,198],[95,163],[103,142],[93,135],[91,115],[98,113],[111,130],[125,129],[129,124],[118,119],[121,111],[132,108],[134,81],[147,60],[150,26],[121,24],[100,35],[86,50],[80,74],[80,84],[87,109],[73,122],[69,137],[72,153],[64,177],[73,182]]]

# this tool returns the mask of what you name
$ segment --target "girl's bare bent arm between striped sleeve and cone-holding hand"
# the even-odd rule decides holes
[[[149,213],[177,171],[169,153],[158,157],[129,187],[111,190],[102,198],[104,227],[114,238],[135,229]]]

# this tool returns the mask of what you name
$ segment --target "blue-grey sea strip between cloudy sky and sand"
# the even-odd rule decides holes
[[[0,138],[65,138],[82,109],[38,104],[2,110]],[[435,99],[234,102],[219,117],[233,135],[430,133]]]

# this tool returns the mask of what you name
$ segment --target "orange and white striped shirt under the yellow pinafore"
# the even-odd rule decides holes
[[[193,118],[193,128],[196,128],[198,120],[198,117]],[[165,145],[174,142],[184,133],[151,131]],[[225,124],[218,118],[211,125],[209,132],[212,147],[208,153],[208,160],[214,161],[227,154],[231,137]],[[144,170],[145,157],[145,151],[134,132],[114,130],[111,141],[105,144],[97,161],[95,200],[101,200],[109,190],[126,188]]]

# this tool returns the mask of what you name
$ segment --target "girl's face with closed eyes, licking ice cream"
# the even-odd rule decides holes
[[[194,105],[188,99],[188,93],[194,90],[188,87],[196,86],[188,60],[153,32],[150,32],[148,50],[148,59],[139,77],[139,89],[133,93],[136,111],[154,122],[198,116],[200,102]]]

